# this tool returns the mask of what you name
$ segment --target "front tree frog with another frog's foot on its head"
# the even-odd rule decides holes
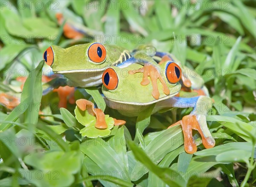
[[[154,103],[155,107],[152,113],[162,109],[171,109],[172,107],[193,107],[194,110],[189,115],[184,116],[181,121],[174,124],[180,124],[182,127],[185,151],[187,153],[195,153],[197,150],[197,145],[192,136],[192,130],[198,130],[202,137],[204,147],[214,147],[215,140],[212,138],[206,122],[207,113],[212,108],[211,98],[208,96],[196,96],[191,98],[175,96],[181,88],[179,83],[181,79],[181,68],[175,62],[167,60],[159,65],[160,74],[165,75],[163,80],[159,79],[151,83],[146,81],[146,84],[143,85],[140,83],[140,75],[134,76],[133,74],[139,72],[143,74],[145,71],[148,71],[145,68],[142,71],[142,68],[142,65],[131,64],[125,68],[126,71],[138,69],[139,71],[134,71],[128,74],[128,76],[122,76],[123,70],[119,67],[112,66],[108,68],[102,77],[102,93],[105,95],[106,104],[126,116],[137,116],[140,111],[147,110],[149,106]],[[148,73],[143,74],[143,79],[147,78],[147,75]],[[156,75],[156,77],[158,77],[158,75]],[[158,90],[159,95],[153,94],[156,92],[156,88],[160,88]],[[169,94],[166,88],[169,90]],[[120,103],[122,105],[120,105]],[[124,111],[122,108],[126,108],[127,110]]]

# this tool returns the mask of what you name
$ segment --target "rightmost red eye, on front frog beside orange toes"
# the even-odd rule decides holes
[[[166,78],[170,83],[179,82],[181,78],[181,69],[176,63],[169,61],[166,63]]]

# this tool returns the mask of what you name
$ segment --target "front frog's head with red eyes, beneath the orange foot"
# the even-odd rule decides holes
[[[130,70],[137,70],[142,65],[132,64],[126,68],[111,66],[107,68],[102,76],[102,92],[109,100],[119,103],[137,105],[143,103],[149,105],[160,100],[168,99],[176,95],[181,88],[179,83],[181,77],[180,67],[172,61],[166,61],[160,65],[163,79],[170,90],[170,94],[163,93],[163,86],[160,80],[157,80],[157,86],[160,92],[159,99],[152,96],[152,84],[141,85],[143,74],[129,74]]]

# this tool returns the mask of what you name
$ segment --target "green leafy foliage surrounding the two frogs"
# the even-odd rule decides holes
[[[0,185],[255,185],[255,5],[240,0],[2,0],[0,91],[21,98],[21,104],[13,111],[1,106]],[[87,35],[64,37],[57,12]],[[216,146],[204,150],[199,145],[194,155],[184,152],[181,128],[166,127],[188,114],[185,109],[128,118],[106,108],[127,124],[106,139],[82,138],[74,106],[68,105],[71,113],[60,112],[56,93],[42,97],[37,75],[48,72],[40,61],[50,45],[66,48],[94,40],[129,50],[151,43],[195,68],[215,100],[207,123]],[[29,78],[21,94],[15,78],[24,70]],[[75,96],[99,104],[96,92],[78,89]],[[35,110],[40,103],[44,118]],[[143,129],[149,121],[144,132],[136,133],[135,124]],[[133,143],[135,133],[140,141]],[[194,137],[200,144],[198,134]]]

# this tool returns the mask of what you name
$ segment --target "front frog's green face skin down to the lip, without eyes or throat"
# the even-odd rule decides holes
[[[141,85],[140,82],[143,78],[143,73],[136,73],[136,74],[129,74],[129,70],[137,70],[142,65],[139,64],[132,64],[127,68],[119,68],[116,66],[111,66],[118,77],[118,85],[114,90],[108,90],[104,85],[102,86],[102,93],[105,95],[106,98],[120,102],[120,103],[127,103],[127,104],[152,104],[162,99],[167,99],[180,91],[181,85],[179,82],[176,84],[171,84],[168,82],[165,76],[165,68],[166,63],[160,65],[160,69],[162,71],[163,79],[165,80],[167,87],[170,90],[170,94],[166,96],[163,93],[163,86],[160,83],[160,80],[157,80],[158,90],[160,92],[159,99],[154,99],[152,96],[152,85],[151,83],[148,85]]]

